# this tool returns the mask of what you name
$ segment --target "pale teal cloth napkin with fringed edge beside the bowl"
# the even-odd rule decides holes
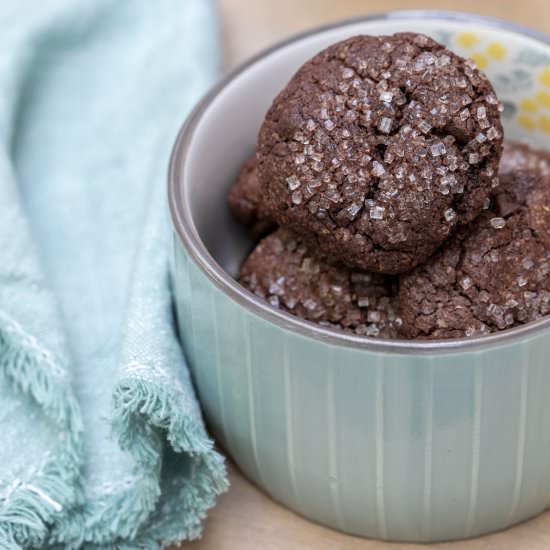
[[[165,174],[208,0],[0,6],[0,548],[160,548],[227,486],[172,318]]]

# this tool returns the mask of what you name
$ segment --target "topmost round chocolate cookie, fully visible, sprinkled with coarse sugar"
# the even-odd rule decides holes
[[[261,127],[266,206],[333,260],[407,271],[498,183],[500,110],[474,63],[426,36],[334,44],[299,69]]]

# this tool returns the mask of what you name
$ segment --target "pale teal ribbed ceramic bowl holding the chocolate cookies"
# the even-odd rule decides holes
[[[170,169],[181,336],[204,413],[273,498],[366,537],[439,541],[550,503],[550,318],[461,341],[383,341],[272,309],[233,279],[250,247],[226,197],[264,114],[306,59],[352,35],[417,31],[477,60],[509,139],[550,148],[548,39],[464,14],[315,30],[256,57],[185,123]]]

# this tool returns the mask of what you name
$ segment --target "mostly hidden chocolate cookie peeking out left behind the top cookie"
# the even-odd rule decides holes
[[[258,179],[256,156],[250,157],[242,166],[235,183],[229,190],[229,207],[234,216],[249,226],[256,236],[265,235],[275,226],[263,201]]]

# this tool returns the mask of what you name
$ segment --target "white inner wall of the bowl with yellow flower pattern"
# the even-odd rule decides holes
[[[276,94],[298,67],[326,46],[357,34],[415,31],[471,57],[490,78],[505,110],[508,140],[550,149],[550,46],[520,30],[469,16],[394,14],[320,30],[272,50],[230,79],[199,116],[187,155],[176,162],[181,200],[210,255],[231,276],[251,247],[227,207],[227,192],[253,153],[258,129]]]

